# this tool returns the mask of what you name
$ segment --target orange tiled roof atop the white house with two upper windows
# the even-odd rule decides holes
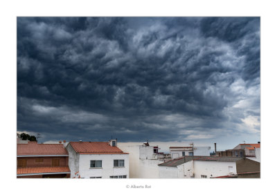
[[[69,142],[79,154],[127,154],[118,147],[111,147],[108,142]]]

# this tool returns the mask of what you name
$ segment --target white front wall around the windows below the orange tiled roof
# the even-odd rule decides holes
[[[101,168],[90,168],[90,160],[102,160]],[[114,160],[124,160],[125,167],[114,167]],[[129,154],[80,154],[81,178],[127,176],[129,178]]]

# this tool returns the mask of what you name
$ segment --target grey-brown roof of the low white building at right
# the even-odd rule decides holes
[[[159,166],[177,167],[178,165],[187,163],[190,160],[203,160],[203,161],[218,161],[218,162],[235,162],[241,160],[241,157],[222,157],[222,156],[184,156],[168,160],[166,163],[161,163]]]

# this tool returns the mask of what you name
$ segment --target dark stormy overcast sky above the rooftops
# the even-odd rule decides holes
[[[260,141],[260,18],[18,17],[17,131]]]

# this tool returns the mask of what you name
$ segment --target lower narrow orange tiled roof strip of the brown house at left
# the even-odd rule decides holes
[[[64,172],[70,172],[69,167],[21,167],[21,168],[17,168],[17,175],[64,173]]]

